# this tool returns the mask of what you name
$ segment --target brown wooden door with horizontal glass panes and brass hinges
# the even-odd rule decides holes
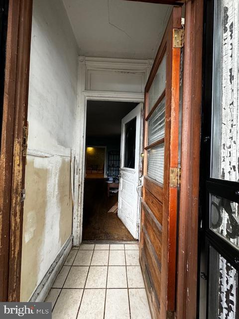
[[[155,319],[175,311],[180,31],[174,7],[145,87],[140,263]]]

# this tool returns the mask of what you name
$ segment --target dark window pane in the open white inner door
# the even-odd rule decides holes
[[[134,168],[136,118],[125,124],[124,167]]]

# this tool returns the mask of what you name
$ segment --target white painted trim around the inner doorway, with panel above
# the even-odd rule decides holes
[[[152,64],[153,60],[79,57],[73,208],[74,246],[79,246],[82,241],[87,101],[144,102],[144,86]],[[93,73],[103,76],[102,79],[105,82],[102,88],[104,88],[104,90],[91,89],[91,87],[98,87],[97,83],[92,86],[91,75]],[[128,88],[131,85],[132,91],[134,92],[119,91],[117,86],[118,76],[123,76],[124,81],[126,81],[122,83],[122,81],[119,80],[121,81],[119,89],[124,87]],[[91,80],[89,80],[89,77],[91,77]],[[129,78],[129,85],[127,86],[127,79]],[[138,82],[139,78],[141,82]],[[99,77],[97,79],[98,82],[101,82]],[[97,79],[95,78],[95,80]],[[113,83],[114,81],[116,82]],[[102,85],[102,83],[100,85]],[[113,90],[112,88],[116,88],[117,90]]]

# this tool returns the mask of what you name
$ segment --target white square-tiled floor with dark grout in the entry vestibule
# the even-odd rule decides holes
[[[151,319],[138,245],[74,247],[46,301],[53,319]]]

